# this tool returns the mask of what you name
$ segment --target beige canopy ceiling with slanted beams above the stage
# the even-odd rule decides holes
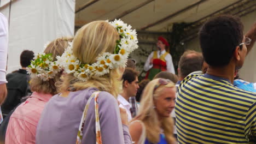
[[[253,0],[77,0],[75,26],[121,19],[137,30],[165,32],[174,22],[197,22],[214,14],[245,14]],[[228,11],[230,10],[230,11]]]

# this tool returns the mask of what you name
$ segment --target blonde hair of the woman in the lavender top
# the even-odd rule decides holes
[[[117,30],[106,21],[93,21],[84,25],[77,31],[73,40],[73,54],[82,63],[92,64],[96,62],[99,54],[104,52],[113,53],[116,41],[119,40]],[[121,88],[118,69],[109,70],[109,73],[101,77],[91,75],[86,82],[80,81],[73,74],[62,76],[60,91],[65,92],[68,88],[75,91],[95,87],[100,91],[106,91],[117,97]]]

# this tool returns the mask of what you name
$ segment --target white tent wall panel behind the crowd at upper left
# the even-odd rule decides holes
[[[59,37],[73,37],[72,0],[1,1],[1,13],[9,19],[8,73],[20,68],[23,50],[42,52],[44,44]]]

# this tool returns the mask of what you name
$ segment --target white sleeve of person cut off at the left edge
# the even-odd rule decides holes
[[[7,83],[5,79],[8,48],[8,21],[0,13],[0,85]]]

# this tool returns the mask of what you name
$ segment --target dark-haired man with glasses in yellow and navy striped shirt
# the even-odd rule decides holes
[[[206,74],[189,74],[179,85],[178,142],[248,143],[256,136],[256,93],[232,83],[255,41],[256,23],[244,36],[240,19],[221,15],[202,26],[199,38],[209,68]]]

